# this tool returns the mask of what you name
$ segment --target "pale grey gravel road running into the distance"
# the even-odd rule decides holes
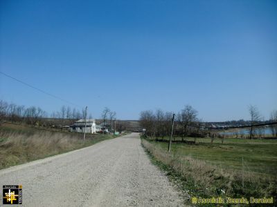
[[[0,170],[0,186],[16,184],[23,206],[183,206],[137,133]]]

